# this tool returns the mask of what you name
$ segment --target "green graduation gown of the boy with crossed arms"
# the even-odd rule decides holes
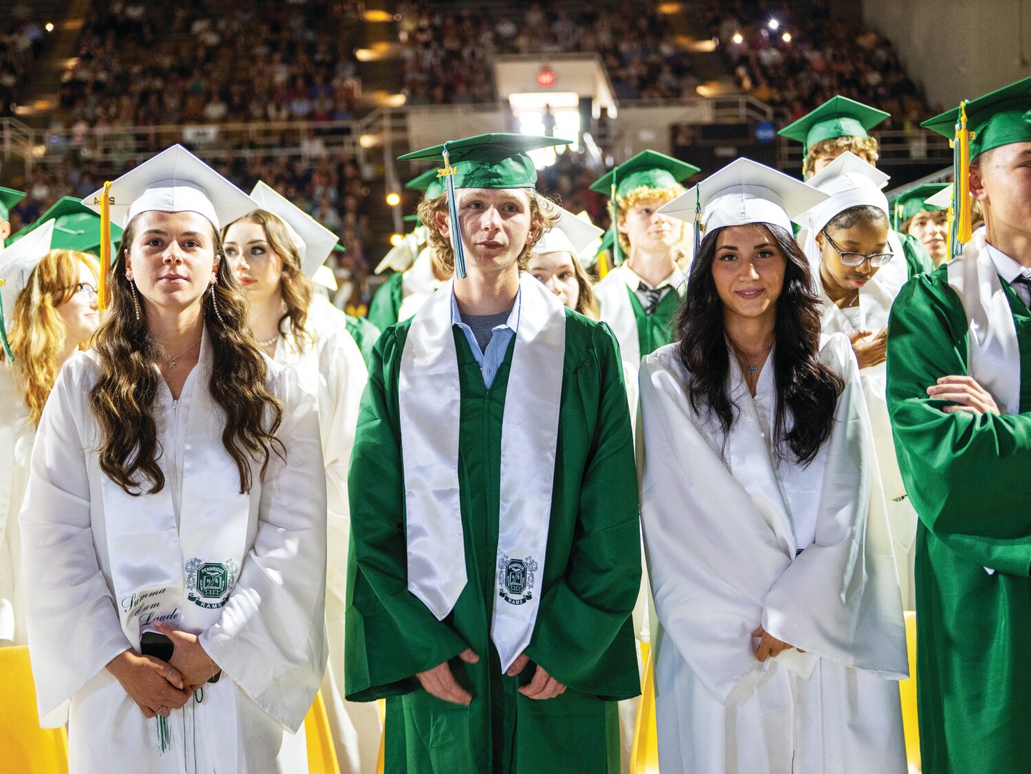
[[[1017,326],[1020,414],[949,414],[927,397],[938,377],[968,372],[968,323],[946,266],[906,283],[888,329],[888,407],[920,515],[925,774],[1031,770],[1031,312],[1000,281]]]

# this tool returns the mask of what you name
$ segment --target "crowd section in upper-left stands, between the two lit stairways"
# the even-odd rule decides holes
[[[356,2],[94,3],[64,74],[73,128],[355,114]]]

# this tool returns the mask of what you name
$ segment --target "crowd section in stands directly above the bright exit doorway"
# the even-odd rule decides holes
[[[657,3],[499,3],[488,13],[403,2],[404,89],[408,104],[496,99],[498,54],[597,53],[618,99],[694,95],[698,79]]]

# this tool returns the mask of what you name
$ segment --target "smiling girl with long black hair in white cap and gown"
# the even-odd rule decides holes
[[[640,376],[661,770],[904,772],[905,633],[858,369],[821,337],[791,236],[824,195],[743,159],[699,188],[669,205],[705,208],[683,339]]]

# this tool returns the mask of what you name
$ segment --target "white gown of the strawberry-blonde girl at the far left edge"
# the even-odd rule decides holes
[[[0,647],[24,645],[25,578],[18,512],[29,482],[36,428],[19,390],[15,367],[0,363]]]

